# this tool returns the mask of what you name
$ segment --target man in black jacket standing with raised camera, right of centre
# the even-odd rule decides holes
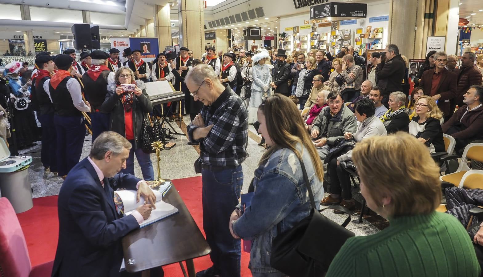
[[[406,72],[406,62],[399,55],[396,44],[388,44],[384,52],[377,58],[377,85],[384,88],[383,105],[389,108],[389,95],[395,91],[402,91],[402,80]]]

